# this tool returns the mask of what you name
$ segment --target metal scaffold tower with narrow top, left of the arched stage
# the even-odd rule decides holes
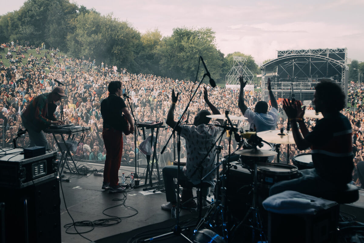
[[[246,58],[244,56],[233,56],[233,67],[225,76],[226,87],[240,88],[239,76],[242,76],[244,82],[253,85],[254,75],[246,66]]]

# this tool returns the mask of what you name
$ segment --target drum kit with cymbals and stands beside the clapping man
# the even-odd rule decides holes
[[[320,118],[321,116],[322,114],[314,111],[306,113],[306,117]],[[232,115],[228,117],[225,115],[209,115],[207,117],[227,120],[246,119],[245,117]],[[230,126],[233,127],[231,121],[229,122]],[[230,144],[231,136],[229,136],[229,139]],[[218,166],[222,164],[222,172],[217,177],[215,200],[211,203],[205,217],[198,223],[195,232],[200,227],[205,226],[217,231],[218,234],[222,234],[226,242],[229,242],[229,237],[231,239],[236,232],[240,232],[241,226],[248,226],[252,230],[252,242],[266,241],[258,205],[269,196],[269,188],[272,185],[279,181],[300,177],[299,170],[301,169],[313,168],[311,154],[298,154],[292,158],[294,165],[279,163],[280,145],[294,143],[291,131],[281,129],[258,132],[252,135],[250,139],[242,142],[242,149],[234,152],[234,154],[240,156],[238,161],[228,160],[227,158],[231,156],[229,154],[219,164],[217,163]],[[276,151],[273,150],[271,144],[276,144]],[[276,163],[267,162],[269,157],[276,155]],[[240,166],[238,167],[238,165]],[[244,203],[248,206],[242,205]],[[237,213],[237,211],[240,212]],[[242,218],[241,211],[246,212]]]

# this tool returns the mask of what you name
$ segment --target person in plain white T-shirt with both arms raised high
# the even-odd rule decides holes
[[[268,78],[268,90],[269,90],[269,98],[270,103],[272,104],[272,109],[268,112],[268,103],[265,101],[258,101],[254,111],[250,110],[248,106],[244,103],[244,87],[246,82],[244,82],[243,78],[239,77],[240,81],[240,94],[238,100],[238,106],[243,113],[244,117],[248,118],[250,125],[254,125],[257,132],[267,131],[267,130],[275,130],[277,126],[278,119],[278,104],[276,98],[274,98],[274,94],[272,91],[272,87],[270,86],[270,79]]]

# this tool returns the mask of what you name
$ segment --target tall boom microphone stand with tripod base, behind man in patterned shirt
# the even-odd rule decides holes
[[[185,116],[189,106],[190,106],[190,103],[191,101],[193,100],[195,94],[197,93],[197,90],[198,88],[201,86],[201,83],[203,81],[203,79],[206,77],[206,73],[203,74],[201,80],[199,81],[194,93],[191,95],[191,98],[189,100],[189,102],[187,103],[187,106],[185,108],[185,110],[183,111],[181,117],[179,117],[176,125],[174,126],[173,130],[172,130],[172,134],[169,136],[166,144],[163,146],[162,150],[161,150],[161,154],[163,154],[164,150],[166,150],[167,148],[167,145],[169,143],[169,141],[171,140],[171,137],[173,136],[174,132],[176,131],[176,128],[178,128],[179,124],[181,124],[181,121],[182,121],[182,118]],[[162,236],[166,236],[166,235],[171,235],[171,234],[175,234],[175,235],[181,235],[183,236],[188,242],[191,242],[193,243],[190,239],[188,239],[185,235],[182,234],[182,228],[181,226],[179,226],[179,172],[180,172],[180,168],[181,168],[181,133],[180,132],[177,132],[177,158],[178,158],[178,164],[177,164],[177,207],[176,207],[176,224],[175,226],[173,227],[172,231],[169,232],[169,233],[166,233],[166,234],[162,234],[162,235],[158,235],[158,236],[155,236],[153,238],[149,238],[149,239],[145,239],[144,242],[146,241],[151,241],[151,240],[154,240],[156,238],[160,238]],[[158,172],[159,173],[159,172]],[[183,230],[187,230],[186,229],[183,229]]]

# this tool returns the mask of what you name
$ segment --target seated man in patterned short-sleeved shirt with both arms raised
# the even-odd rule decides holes
[[[167,114],[166,124],[171,128],[174,128],[177,122],[174,121],[174,109],[175,104],[178,101],[177,96],[172,91],[172,105]],[[207,96],[207,89],[204,88],[203,99],[206,104],[210,107],[214,115],[220,114],[219,110],[209,101]],[[200,165],[200,162],[205,158],[207,152],[215,144],[218,132],[221,130],[218,126],[208,126],[211,118],[206,117],[210,115],[207,110],[201,110],[195,116],[193,125],[179,124],[176,128],[177,132],[181,133],[181,137],[186,140],[186,151],[187,151],[187,161],[186,166],[181,167],[179,171],[179,184],[182,185],[182,196],[181,203],[189,201],[193,197],[192,188],[186,187],[186,181],[190,181],[192,184],[201,183],[201,178],[207,175],[214,168],[214,150],[210,150],[210,153],[206,159],[202,162],[201,167],[202,172],[195,172],[196,168]],[[222,120],[217,120],[214,124],[222,124]],[[167,204],[162,204],[163,210],[171,210],[173,205],[177,204],[177,197],[174,187],[174,178],[177,178],[178,166],[170,165],[163,168],[163,180],[166,189],[166,199]],[[202,174],[202,177],[201,177]],[[203,182],[210,183],[211,186],[214,185],[214,177],[216,173],[210,173],[209,176]],[[207,188],[202,190],[202,196],[206,198]],[[203,202],[206,202],[204,200]],[[189,205],[184,204],[185,207],[195,208],[197,205],[195,201],[189,201]]]

